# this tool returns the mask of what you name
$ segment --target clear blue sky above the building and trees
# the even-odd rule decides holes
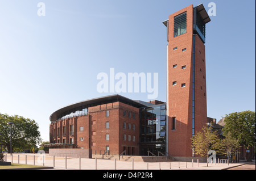
[[[46,16],[38,16],[38,2]],[[216,3],[207,24],[207,109],[218,120],[255,111],[255,1],[0,0],[0,112],[34,119],[49,140],[49,116],[97,91],[97,74],[158,73],[166,101],[168,15]],[[148,101],[146,93],[120,93]]]

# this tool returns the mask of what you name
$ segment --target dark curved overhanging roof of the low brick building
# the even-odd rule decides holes
[[[115,95],[108,95],[108,96],[103,96],[100,98],[88,99],[88,100],[84,100],[84,101],[77,102],[74,104],[70,104],[68,106],[60,108],[59,110],[53,112],[51,114],[51,116],[49,117],[49,120],[51,122],[54,122],[54,121],[60,119],[64,114],[75,112],[75,111],[79,110],[79,108],[81,109],[82,107],[88,108],[88,107],[97,106],[100,104],[113,103],[113,102],[122,102],[122,103],[129,104],[130,106],[134,106],[134,107],[138,107],[138,108],[144,107],[144,104],[135,102],[134,100],[131,100],[129,98],[126,98],[126,97],[118,95],[118,94],[115,94]]]

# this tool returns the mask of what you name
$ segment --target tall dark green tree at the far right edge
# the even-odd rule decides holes
[[[255,112],[243,111],[226,115],[225,127],[222,129],[223,135],[228,133],[235,138],[238,143],[250,149],[248,161],[251,161],[253,146],[255,145]]]

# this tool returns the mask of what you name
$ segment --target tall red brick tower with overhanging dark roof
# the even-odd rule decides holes
[[[167,27],[167,152],[193,157],[191,137],[207,123],[204,6],[169,16]]]

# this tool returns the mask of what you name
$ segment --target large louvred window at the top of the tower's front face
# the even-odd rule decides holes
[[[174,17],[174,37],[187,32],[187,12]]]

